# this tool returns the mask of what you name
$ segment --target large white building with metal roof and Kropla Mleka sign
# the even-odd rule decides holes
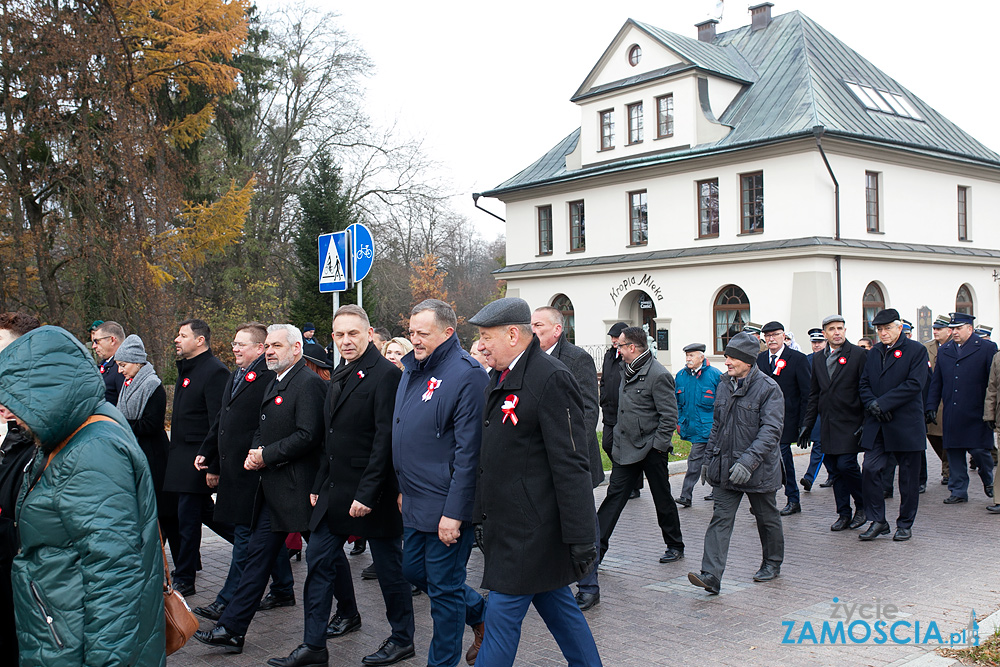
[[[554,305],[575,342],[648,324],[719,362],[742,323],[856,341],[896,308],[930,337],[963,310],[1000,324],[1000,155],[801,12],[698,39],[629,20],[572,101],[580,129],[495,189],[508,295]],[[714,355],[713,355],[714,352]]]

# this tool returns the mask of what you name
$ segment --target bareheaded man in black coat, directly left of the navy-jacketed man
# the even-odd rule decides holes
[[[337,614],[327,627],[335,572],[344,569],[344,543],[364,536],[372,550],[386,618],[392,635],[365,665],[391,665],[413,656],[413,597],[403,577],[403,521],[396,505],[392,468],[392,411],[401,373],[371,342],[373,329],[360,306],[341,306],[333,318],[333,340],[342,362],[331,377],[324,408],[325,449],[310,502],[312,535],[306,556],[309,574],[302,596],[302,644],[274,667],[325,665],[327,637],[361,627],[354,586],[337,595]],[[345,563],[346,565],[346,563]],[[350,568],[346,568],[350,572]]]

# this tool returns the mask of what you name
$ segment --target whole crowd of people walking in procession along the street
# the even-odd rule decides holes
[[[95,322],[95,367],[69,332],[0,314],[0,659],[164,664],[162,544],[173,587],[193,595],[203,525],[232,544],[223,586],[195,609],[211,622],[195,639],[210,647],[240,653],[258,611],[296,605],[289,559],[304,552],[301,642],[268,664],[327,665],[328,640],[362,625],[352,544],[371,551],[363,576],[378,580],[391,630],[362,664],[416,655],[412,599],[426,594],[430,666],[512,665],[533,605],[567,663],[591,667],[602,663],[584,612],[600,603],[598,565],[643,477],[664,564],[684,559],[679,512],[699,480],[711,486],[701,567],[688,574],[709,593],[744,495],[761,540],[753,580],[780,576],[782,521],[821,468],[830,529],[863,528],[863,541],[891,532],[885,498],[897,488],[892,539],[911,539],[927,442],[945,503],[968,501],[971,459],[987,510],[1000,513],[1000,354],[969,315],[939,318],[921,344],[883,310],[868,346],[831,315],[810,330],[809,355],[781,323],[748,324],[726,341],[726,372],[694,342],[676,374],[642,328],[619,322],[600,376],[557,309],[502,298],[468,321],[468,351],[436,299],[414,306],[395,338],[343,306],[327,348],[311,323],[249,322],[233,335],[230,370],[209,325],[185,320],[168,431],[167,392],[139,336]],[[676,498],[675,435],[691,443]],[[798,480],[793,446],[811,446]],[[602,447],[611,473],[595,506]],[[486,596],[466,582],[474,546]]]

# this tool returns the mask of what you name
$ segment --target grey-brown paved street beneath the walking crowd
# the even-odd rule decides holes
[[[833,598],[848,604],[893,604],[898,618],[920,621],[927,628],[934,621],[944,639],[961,631],[970,610],[982,619],[1000,608],[998,538],[1000,517],[986,512],[992,504],[978,477],[970,484],[970,501],[944,505],[946,486],[940,485],[940,466],[930,453],[930,483],[920,497],[913,539],[892,542],[879,538],[864,543],[859,531],[830,531],[836,520],[833,489],[813,487],[802,494],[802,513],[783,519],[785,562],[781,576],[770,583],[753,583],[760,565],[756,525],[743,502],[737,516],[722,594],[709,596],[687,582],[688,571],[700,570],[705,528],[712,515],[710,502],[702,500],[708,487],[695,489],[693,507],[680,508],[686,544],[685,559],[673,564],[658,562],[664,546],[656,525],[648,489],[630,501],[611,540],[600,571],[601,602],[587,612],[604,664],[608,667],[645,665],[897,665],[933,667],[953,664],[933,653],[933,647],[912,643],[851,645],[783,644],[786,624],[794,622],[797,638],[804,621],[812,621],[819,635],[823,620],[830,620]],[[796,457],[801,474],[805,456]],[[821,473],[822,475],[825,473]],[[681,475],[671,486],[679,492]],[[594,491],[599,503],[607,487]],[[779,506],[784,498],[779,492]],[[896,498],[886,501],[886,514],[894,523]],[[229,545],[205,529],[204,571],[191,606],[210,603],[225,578]],[[357,666],[389,635],[378,584],[362,581],[361,569],[371,563],[370,552],[349,558],[363,619],[359,632],[330,640],[330,664]],[[482,555],[474,550],[469,561],[469,583],[481,581]],[[306,561],[293,561],[297,595],[305,580]],[[417,656],[401,665],[425,665],[431,634],[426,595],[414,599]],[[856,618],[856,617],[855,617]],[[834,621],[835,622],[835,621]],[[202,627],[211,624],[202,621]],[[860,632],[860,631],[859,631]],[[302,607],[261,612],[250,627],[242,655],[221,653],[192,640],[168,658],[168,664],[242,666],[262,665],[267,658],[285,656],[301,642]],[[859,635],[860,636],[860,635]],[[466,632],[465,644],[471,642]],[[462,663],[464,664],[464,662]],[[530,610],[524,623],[515,665],[565,664],[562,654],[541,619]],[[957,663],[955,663],[957,664]]]

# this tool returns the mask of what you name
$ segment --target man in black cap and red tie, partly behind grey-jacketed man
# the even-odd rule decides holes
[[[781,470],[785,480],[785,506],[781,516],[798,514],[799,487],[795,481],[795,459],[792,443],[802,432],[802,418],[809,400],[809,362],[806,355],[785,345],[785,327],[780,322],[768,322],[761,331],[767,349],[757,356],[757,368],[771,376],[785,398],[785,427],[781,432]]]

